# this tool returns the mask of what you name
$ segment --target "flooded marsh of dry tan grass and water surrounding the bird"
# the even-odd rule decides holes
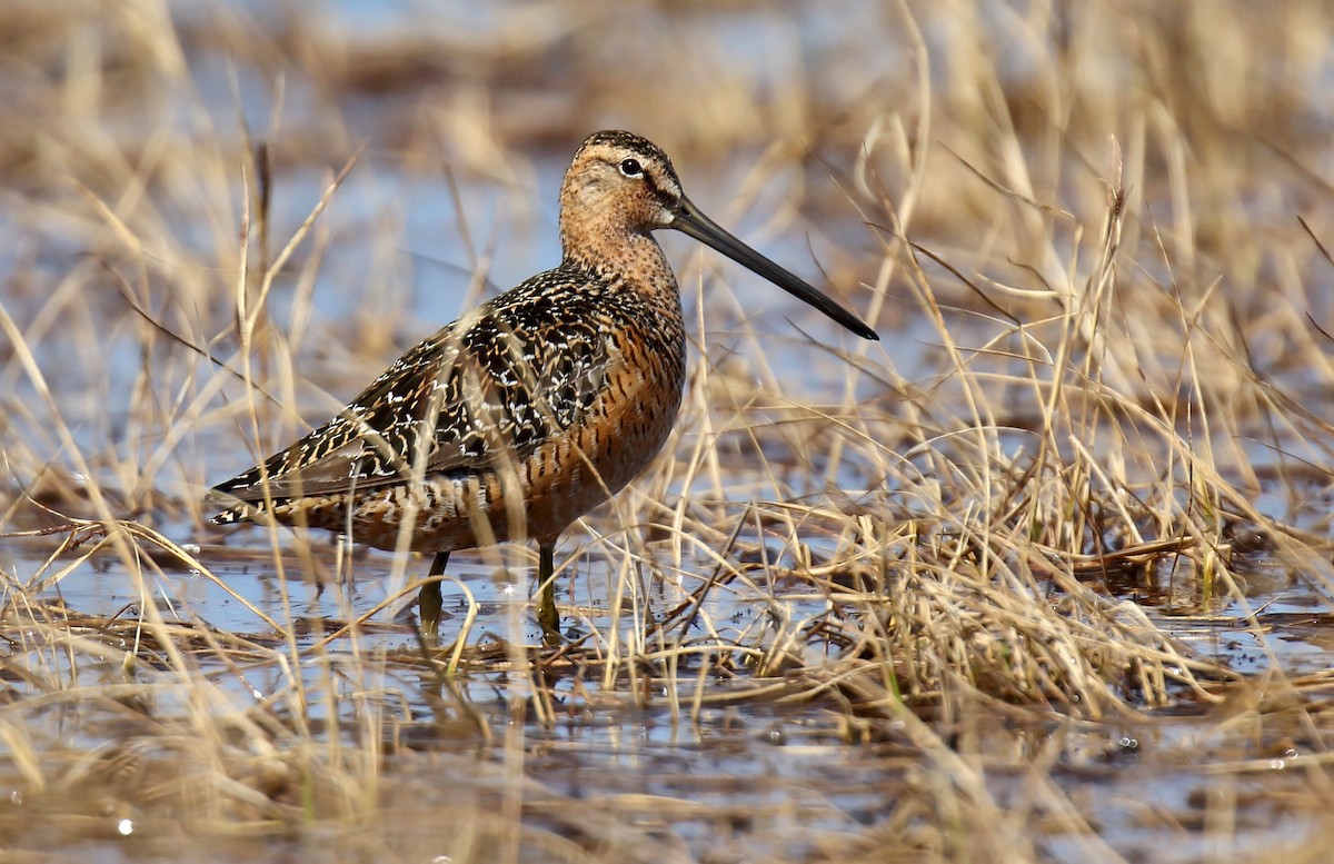
[[[1325,4],[113,5],[0,11],[0,860],[1321,859]],[[567,539],[562,649],[205,528],[550,263],[606,125],[884,345],[672,245],[686,407]]]

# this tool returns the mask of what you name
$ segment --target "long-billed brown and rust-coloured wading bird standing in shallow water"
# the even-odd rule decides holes
[[[560,533],[654,459],[686,381],[680,292],[652,232],[675,228],[863,339],[875,331],[704,216],[671,160],[628,132],[583,143],[560,188],[555,269],[416,345],[336,417],[219,484],[217,524],[275,520],[383,549],[538,541],[538,620],[559,617]],[[420,592],[434,640],[440,587]]]

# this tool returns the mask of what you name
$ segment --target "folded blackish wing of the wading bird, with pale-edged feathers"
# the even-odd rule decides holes
[[[503,296],[414,347],[336,417],[209,499],[335,495],[527,457],[579,421],[620,360],[603,323],[560,292],[519,300]]]

